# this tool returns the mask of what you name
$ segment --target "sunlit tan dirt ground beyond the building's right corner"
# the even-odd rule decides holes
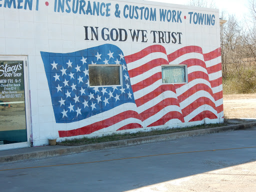
[[[223,95],[225,118],[256,119],[256,94]]]

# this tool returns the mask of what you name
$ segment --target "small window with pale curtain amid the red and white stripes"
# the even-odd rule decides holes
[[[162,65],[162,83],[185,83],[186,65]]]

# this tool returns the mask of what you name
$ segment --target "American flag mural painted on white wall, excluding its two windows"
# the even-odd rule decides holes
[[[220,54],[150,45],[124,55],[112,44],[41,52],[56,123],[79,126],[58,130],[59,137],[222,118]],[[88,67],[96,64],[120,66],[121,85],[90,86]],[[162,84],[161,65],[177,64],[187,66],[187,83]]]

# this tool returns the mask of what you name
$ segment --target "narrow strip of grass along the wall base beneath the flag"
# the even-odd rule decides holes
[[[147,131],[147,132],[139,131],[136,133],[112,134],[112,135],[101,136],[101,137],[92,137],[92,138],[83,137],[83,138],[75,138],[75,139],[71,139],[71,140],[57,142],[57,144],[65,145],[65,146],[77,146],[77,145],[92,144],[92,143],[99,143],[99,142],[108,142],[108,141],[114,141],[114,140],[123,140],[123,139],[128,139],[128,138],[137,138],[137,137],[143,137],[143,136],[168,134],[168,133],[172,133],[172,132],[181,132],[181,131],[187,131],[187,130],[205,129],[205,128],[212,128],[212,127],[226,126],[226,125],[227,125],[227,123],[202,124],[202,125],[183,127],[183,128],[151,130],[151,131]]]

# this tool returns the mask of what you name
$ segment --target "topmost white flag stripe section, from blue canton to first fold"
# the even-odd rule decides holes
[[[168,58],[167,58],[167,55],[165,53],[162,53],[162,52],[152,52],[138,60],[135,60],[133,62],[130,62],[130,63],[127,63],[127,69],[128,70],[131,70],[131,69],[134,69],[134,68],[137,68],[139,66],[142,66],[143,64],[153,60],[153,59],[156,59],[156,58],[163,58],[167,61],[168,63]]]

